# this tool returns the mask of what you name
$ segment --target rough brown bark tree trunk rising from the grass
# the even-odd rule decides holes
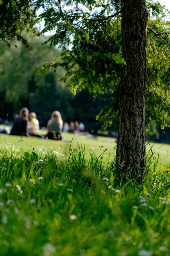
[[[141,176],[145,162],[145,85],[147,74],[147,16],[145,0],[121,0],[123,58],[120,81],[116,163],[126,179]],[[132,168],[133,167],[133,168]],[[122,176],[121,175],[121,176]]]

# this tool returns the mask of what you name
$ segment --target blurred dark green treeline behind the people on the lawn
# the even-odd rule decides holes
[[[24,106],[37,114],[40,126],[47,125],[52,111],[58,110],[63,121],[83,122],[86,130],[94,134],[115,135],[118,121],[112,127],[101,132],[101,122],[95,117],[102,107],[111,99],[104,101],[106,95],[93,98],[86,89],[73,95],[67,88],[68,84],[58,82],[64,76],[64,70],[51,70],[39,76],[37,71],[46,61],[59,56],[59,50],[49,45],[41,45],[46,38],[28,36],[31,51],[21,44],[18,48],[8,48],[1,42],[0,48],[0,123],[5,119],[13,121],[16,113]],[[147,139],[155,142],[170,143],[170,128],[162,130],[154,122],[150,124]]]

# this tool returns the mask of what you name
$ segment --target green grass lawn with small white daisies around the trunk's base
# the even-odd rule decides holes
[[[117,181],[114,139],[76,139],[0,135],[0,255],[170,255],[170,146],[147,146],[137,185]]]

